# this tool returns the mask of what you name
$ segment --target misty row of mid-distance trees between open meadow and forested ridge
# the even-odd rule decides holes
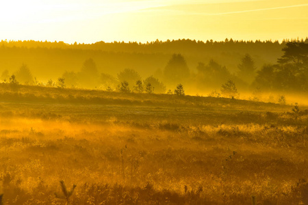
[[[191,90],[192,88],[194,90],[216,89],[222,86],[221,92],[232,97],[238,93],[237,87],[250,87],[251,90],[264,92],[307,92],[307,45],[305,42],[287,42],[282,49],[283,55],[277,59],[277,64],[265,64],[259,69],[255,66],[253,57],[246,53],[239,61],[238,71],[233,73],[214,59],[210,59],[207,64],[199,62],[196,72],[192,72],[183,55],[173,54],[163,70],[145,79],[142,79],[140,74],[131,68],[118,72],[117,77],[107,72],[100,73],[92,58],[86,59],[78,72],[65,71],[57,81],[52,79],[46,83],[38,81],[26,64],[23,64],[12,75],[8,70],[4,70],[0,78],[5,83],[84,87],[137,93],[170,93],[172,91],[167,91],[166,87],[178,85],[185,85]],[[228,89],[233,92],[227,94]],[[218,96],[218,93],[213,92],[211,96]]]

